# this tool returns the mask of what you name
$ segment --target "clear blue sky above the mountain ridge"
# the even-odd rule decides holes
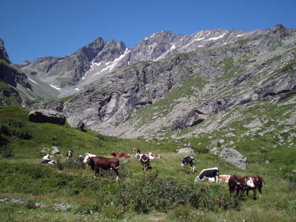
[[[0,38],[19,64],[66,56],[99,36],[134,47],[162,30],[191,35],[201,30],[296,28],[296,1],[90,1],[2,0]]]

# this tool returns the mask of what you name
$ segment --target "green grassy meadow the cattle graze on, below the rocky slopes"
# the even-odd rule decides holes
[[[28,122],[28,113],[22,108],[0,107],[1,221],[296,219],[295,177],[291,170],[287,171],[295,167],[295,148],[288,144],[271,148],[273,139],[268,139],[269,134],[246,136],[246,140],[215,133],[182,140],[123,140],[89,129],[78,131],[68,125]],[[281,135],[285,138],[283,133]],[[225,144],[233,140],[237,149],[244,152],[249,159],[246,170],[208,153],[207,147],[218,138],[224,138]],[[179,164],[184,155],[176,154],[177,148],[189,142],[197,159],[195,173],[181,168]],[[266,150],[261,150],[262,144]],[[65,158],[54,157],[56,165],[41,164],[44,155],[41,150],[52,146],[59,147],[64,155],[72,149],[73,159],[65,162]],[[140,148],[142,153],[159,153],[163,158],[152,160],[153,169],[147,172],[134,157],[128,162],[120,159],[118,182],[112,171],[102,171],[101,177],[94,179],[89,166],[74,163],[74,159],[85,152],[111,157],[112,151],[132,154],[133,148]],[[264,158],[269,159],[270,164],[265,164]],[[229,197],[226,184],[194,182],[200,170],[213,166],[220,169],[220,174],[261,175],[266,183],[262,198],[252,199],[253,192],[249,199]],[[284,171],[288,174],[282,173]]]

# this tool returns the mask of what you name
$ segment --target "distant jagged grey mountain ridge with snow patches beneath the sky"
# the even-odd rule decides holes
[[[191,36],[157,32],[144,38],[132,49],[122,42],[104,41],[97,38],[94,43],[78,49],[70,56],[60,58],[43,57],[33,63],[25,61],[17,65],[27,74],[32,74],[67,96],[81,90],[89,83],[121,67],[141,60],[160,60],[177,53],[192,52],[202,48],[213,48],[244,38],[254,38],[262,30],[205,30]]]

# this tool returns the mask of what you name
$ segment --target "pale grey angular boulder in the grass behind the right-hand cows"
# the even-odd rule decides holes
[[[237,168],[246,169],[246,157],[234,148],[223,148],[219,156],[222,160],[233,164]]]

